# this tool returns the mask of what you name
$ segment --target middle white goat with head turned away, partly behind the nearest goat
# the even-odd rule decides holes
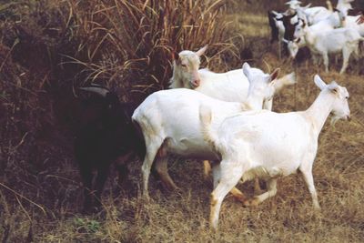
[[[181,157],[218,159],[212,147],[203,139],[199,126],[199,106],[205,104],[221,118],[247,109],[260,110],[263,100],[274,95],[278,71],[276,69],[271,75],[261,74],[245,63],[243,72],[250,82],[246,103],[221,101],[186,88],[162,90],[147,96],[132,116],[133,121],[141,127],[147,145],[142,166],[144,194],[148,195],[148,177],[155,159],[157,172],[165,185],[177,188],[167,172],[167,153]]]

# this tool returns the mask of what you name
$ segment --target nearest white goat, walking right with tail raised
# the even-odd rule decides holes
[[[318,138],[329,114],[333,122],[349,118],[349,93],[335,82],[326,85],[315,76],[321,92],[306,110],[274,113],[268,110],[248,111],[227,117],[219,127],[211,126],[219,120],[217,112],[208,106],[200,107],[201,128],[206,141],[215,147],[222,158],[214,167],[214,190],[211,194],[210,224],[217,228],[221,203],[238,181],[254,177],[265,178],[268,191],[249,199],[245,205],[258,205],[277,193],[277,177],[288,176],[297,170],[311,194],[313,206],[319,200],[312,177],[312,166],[318,150]]]

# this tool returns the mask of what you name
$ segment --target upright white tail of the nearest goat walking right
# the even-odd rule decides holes
[[[211,109],[208,106],[201,105],[199,106],[199,120],[202,136],[204,140],[207,141],[214,150],[217,151],[217,131],[214,131],[211,127]]]

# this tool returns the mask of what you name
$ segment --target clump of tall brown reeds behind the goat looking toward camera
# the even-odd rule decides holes
[[[77,51],[84,53],[69,57],[84,66],[87,82],[150,93],[167,86],[176,52],[208,44],[212,61],[224,50],[234,52],[225,35],[225,1],[89,2],[67,1],[69,25],[77,26],[80,40]]]

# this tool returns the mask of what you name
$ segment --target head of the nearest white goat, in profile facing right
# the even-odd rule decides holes
[[[331,124],[335,124],[340,118],[349,119],[349,92],[347,88],[339,86],[335,81],[327,85],[319,75],[314,77],[314,81],[316,86],[319,86],[323,92],[328,92],[331,96],[334,96],[334,102],[332,104],[332,113],[334,116],[331,119]]]

